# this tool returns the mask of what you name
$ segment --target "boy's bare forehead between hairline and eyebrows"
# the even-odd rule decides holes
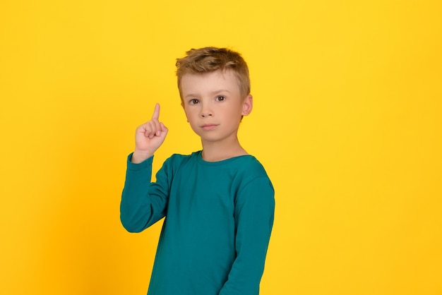
[[[216,90],[239,92],[239,84],[234,71],[227,69],[209,73],[186,73],[181,78],[181,92],[184,95]]]

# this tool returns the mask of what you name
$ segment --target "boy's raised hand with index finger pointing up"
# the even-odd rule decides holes
[[[136,128],[135,133],[135,151],[133,152],[131,162],[141,163],[145,159],[153,156],[155,150],[165,141],[167,136],[167,127],[160,118],[160,104],[155,104],[155,111],[152,119]]]

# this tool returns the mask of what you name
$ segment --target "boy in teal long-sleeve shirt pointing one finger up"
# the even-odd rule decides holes
[[[121,196],[121,223],[140,232],[165,217],[148,295],[256,295],[273,227],[274,191],[239,144],[250,114],[249,69],[237,52],[205,47],[177,59],[181,106],[203,149],[172,155],[150,182],[167,135],[152,119],[136,129]]]

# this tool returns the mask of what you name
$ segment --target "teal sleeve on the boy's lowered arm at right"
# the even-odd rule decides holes
[[[235,203],[237,257],[220,295],[258,295],[275,212],[275,192],[268,178],[258,178],[238,192]]]

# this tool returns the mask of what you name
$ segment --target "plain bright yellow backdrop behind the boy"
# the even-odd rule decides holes
[[[241,52],[241,143],[276,188],[262,295],[442,294],[442,3],[1,1],[0,294],[145,294],[160,224],[119,223],[155,102],[200,148],[174,62]]]

